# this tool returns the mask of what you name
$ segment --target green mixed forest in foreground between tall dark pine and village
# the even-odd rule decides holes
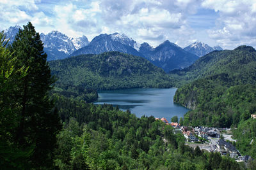
[[[60,169],[244,169],[220,153],[193,150],[154,117],[55,95],[63,122],[54,150]]]

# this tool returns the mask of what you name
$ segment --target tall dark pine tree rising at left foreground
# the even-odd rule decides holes
[[[19,82],[20,92],[15,94],[21,106],[20,123],[16,131],[17,145],[24,148],[35,146],[29,166],[51,167],[52,150],[61,124],[56,110],[53,110],[54,104],[49,99],[54,78],[46,61],[47,54],[31,22],[19,30],[11,49],[19,61],[17,67],[28,67],[27,75]]]

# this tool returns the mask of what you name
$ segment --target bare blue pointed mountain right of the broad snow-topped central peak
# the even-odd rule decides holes
[[[166,72],[188,67],[199,58],[168,40],[156,48],[143,43],[140,47],[140,52],[146,56],[146,59],[156,66],[163,68]]]

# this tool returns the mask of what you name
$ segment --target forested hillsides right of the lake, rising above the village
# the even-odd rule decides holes
[[[256,51],[251,46],[209,53],[175,73],[192,81],[177,90],[174,101],[193,109],[185,116],[193,125],[236,126],[256,112]]]

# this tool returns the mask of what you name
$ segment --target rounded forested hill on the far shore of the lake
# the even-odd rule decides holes
[[[135,87],[172,87],[164,71],[142,57],[120,52],[79,55],[49,62],[58,85],[86,89],[127,89]]]

